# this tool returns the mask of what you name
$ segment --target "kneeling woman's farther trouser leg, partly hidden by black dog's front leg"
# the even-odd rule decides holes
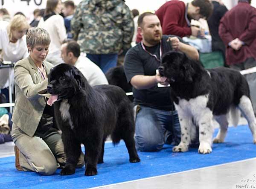
[[[54,154],[57,162],[60,164],[60,168],[64,168],[66,164],[66,155],[64,152],[64,145],[61,139],[61,134],[58,132],[52,133],[48,137],[44,138],[52,153]],[[84,166],[84,154],[81,152],[79,161],[77,163],[77,168]]]

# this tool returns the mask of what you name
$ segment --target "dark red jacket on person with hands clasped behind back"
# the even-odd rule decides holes
[[[226,46],[228,65],[239,64],[251,57],[256,59],[256,9],[249,3],[238,3],[222,17],[219,35]],[[228,46],[235,38],[245,43],[238,51]]]

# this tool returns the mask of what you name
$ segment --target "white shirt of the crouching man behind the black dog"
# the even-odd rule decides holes
[[[102,70],[84,55],[80,55],[74,65],[87,79],[91,86],[108,84],[108,80]]]

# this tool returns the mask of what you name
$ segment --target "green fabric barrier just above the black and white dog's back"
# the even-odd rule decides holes
[[[220,51],[199,53],[199,59],[206,69],[223,67],[224,59]]]

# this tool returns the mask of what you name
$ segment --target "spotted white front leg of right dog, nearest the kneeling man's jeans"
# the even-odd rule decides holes
[[[176,106],[175,106],[176,107]],[[180,108],[177,108],[178,115],[179,115],[179,121],[180,121],[180,143],[177,146],[174,146],[172,148],[172,151],[174,152],[185,152],[189,150],[189,144],[191,142],[190,137],[190,129],[192,125],[192,118],[191,116],[186,115],[183,113],[183,111]]]

